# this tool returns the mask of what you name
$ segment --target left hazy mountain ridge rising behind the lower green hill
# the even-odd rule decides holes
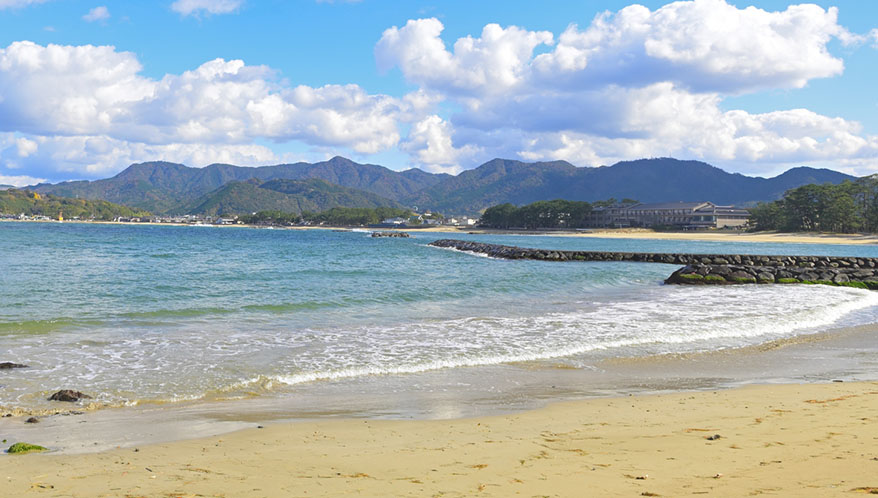
[[[211,164],[190,168],[168,162],[133,164],[104,180],[41,184],[37,192],[84,199],[105,199],[157,213],[183,213],[198,197],[228,184],[250,179],[302,180],[317,178],[342,187],[365,190],[392,200],[413,195],[449,175],[421,170],[392,171],[375,164],[359,164],[343,157],[319,163],[242,167]]]

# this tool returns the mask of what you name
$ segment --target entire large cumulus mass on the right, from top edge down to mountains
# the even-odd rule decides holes
[[[859,44],[865,36],[850,33],[837,16],[816,5],[769,12],[724,0],[680,1],[602,13],[557,38],[488,25],[480,37],[450,46],[439,20],[419,19],[386,30],[375,55],[379,69],[398,68],[422,90],[457,104],[449,119],[413,125],[403,142],[424,164],[453,162],[453,136],[457,148],[485,158],[595,165],[674,155],[751,172],[766,168],[757,163],[871,158],[878,168],[878,139],[857,123],[805,109],[721,109],[728,95],[840,75],[843,61],[828,44]]]

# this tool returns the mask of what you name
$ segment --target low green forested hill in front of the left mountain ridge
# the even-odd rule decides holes
[[[252,178],[232,181],[180,207],[191,214],[245,214],[256,211],[301,213],[320,212],[334,207],[400,207],[377,194],[340,187],[329,182],[308,180],[270,180]]]

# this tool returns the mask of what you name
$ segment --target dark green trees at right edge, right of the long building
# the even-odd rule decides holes
[[[750,209],[754,230],[878,232],[878,176],[834,185],[803,185]]]

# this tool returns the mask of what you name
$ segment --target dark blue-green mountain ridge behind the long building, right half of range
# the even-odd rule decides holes
[[[854,179],[837,171],[807,167],[793,168],[774,178],[758,178],[728,173],[700,161],[671,158],[623,161],[599,168],[577,168],[564,161],[494,159],[403,201],[455,213],[474,213],[503,202],[520,205],[546,199],[596,201],[610,197],[750,205],[779,199],[785,191],[808,183]]]

